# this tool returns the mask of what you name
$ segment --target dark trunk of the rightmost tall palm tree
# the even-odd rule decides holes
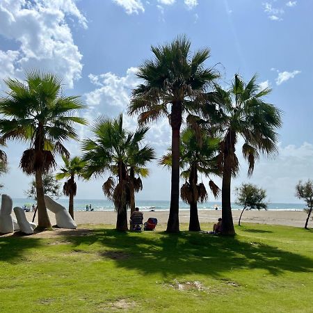
[[[234,222],[232,220],[232,207],[230,204],[230,184],[232,170],[225,166],[222,182],[222,234],[234,235]]]

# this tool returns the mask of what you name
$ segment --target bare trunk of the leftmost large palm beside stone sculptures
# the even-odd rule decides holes
[[[38,209],[38,227],[49,228],[51,223],[49,220],[47,207],[44,198],[44,189],[42,184],[42,172],[36,170],[35,172],[36,193],[37,193],[37,209]]]

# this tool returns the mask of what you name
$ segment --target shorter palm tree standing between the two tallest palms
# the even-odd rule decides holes
[[[182,177],[186,182],[180,189],[182,200],[190,205],[189,231],[200,231],[198,218],[198,202],[207,201],[208,194],[203,182],[198,184],[198,172],[209,177],[211,174],[220,175],[216,166],[214,154],[218,150],[218,138],[211,138],[204,134],[196,134],[193,129],[186,128],[182,131],[180,143],[180,167]],[[172,163],[172,154],[169,152],[161,158],[160,164],[170,167]],[[210,179],[209,188],[214,197],[220,193],[220,189]]]

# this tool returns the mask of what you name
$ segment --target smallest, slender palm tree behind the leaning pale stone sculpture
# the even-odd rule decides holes
[[[69,178],[63,185],[63,193],[69,197],[68,211],[74,220],[74,196],[77,193],[75,175],[83,177],[83,168],[86,165],[86,162],[84,162],[80,157],[67,159],[65,156],[62,156],[62,159],[64,167],[61,168],[61,172],[56,174],[56,179],[63,179],[64,177]]]

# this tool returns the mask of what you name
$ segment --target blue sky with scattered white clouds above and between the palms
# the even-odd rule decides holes
[[[238,147],[241,172],[232,186],[253,182],[272,202],[297,202],[294,186],[313,178],[312,9],[303,0],[0,0],[0,93],[6,77],[23,79],[25,70],[40,67],[63,77],[66,95],[81,95],[88,106],[82,116],[115,117],[127,108],[150,46],[186,34],[193,51],[211,49],[207,66],[220,71],[223,86],[235,73],[246,80],[257,73],[262,86],[273,88],[266,100],[284,111],[278,157],[262,158],[248,179]],[[125,115],[125,126],[134,129],[136,118]],[[88,128],[77,131],[88,136]],[[161,156],[170,143],[168,122],[152,125],[147,141]],[[68,147],[80,154],[79,144]],[[13,198],[23,197],[31,181],[18,168],[25,148],[17,142],[5,148],[10,172],[0,181]],[[138,199],[168,200],[169,172],[156,162],[150,170]],[[79,182],[77,198],[104,198],[104,179]]]

